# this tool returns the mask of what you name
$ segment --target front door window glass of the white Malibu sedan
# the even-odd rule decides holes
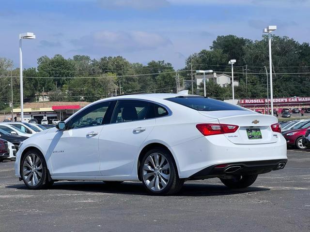
[[[101,102],[88,107],[70,120],[68,129],[93,127],[104,124],[109,105],[110,102]]]

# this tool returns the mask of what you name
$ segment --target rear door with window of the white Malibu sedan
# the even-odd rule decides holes
[[[155,126],[153,104],[141,100],[116,102],[110,124],[99,136],[102,175],[130,175],[140,146]]]

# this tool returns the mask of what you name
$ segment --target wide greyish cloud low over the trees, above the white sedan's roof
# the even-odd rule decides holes
[[[144,31],[96,31],[71,43],[76,50],[98,53],[135,52],[171,45],[171,41],[157,33]]]

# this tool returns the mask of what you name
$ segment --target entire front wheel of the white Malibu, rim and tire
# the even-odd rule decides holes
[[[25,154],[21,162],[22,179],[30,189],[50,187],[53,181],[48,181],[47,164],[43,155],[31,150]]]

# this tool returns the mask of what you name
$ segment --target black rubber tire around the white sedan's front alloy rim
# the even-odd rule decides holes
[[[41,174],[41,178],[40,180],[38,181],[37,184],[35,185],[30,185],[28,183],[28,181],[26,181],[26,178],[27,176],[25,176],[24,174],[24,170],[23,170],[23,167],[24,167],[24,163],[25,163],[25,160],[26,158],[31,155],[31,154],[35,154],[39,159],[40,159],[40,162],[42,164],[42,174]],[[41,172],[40,172],[41,173]],[[22,158],[22,161],[21,161],[21,164],[20,164],[20,174],[21,174],[21,177],[26,185],[27,188],[29,189],[43,189],[43,188],[48,188],[50,186],[53,185],[54,181],[49,181],[48,179],[48,170],[47,170],[47,163],[43,157],[43,155],[41,154],[41,152],[39,152],[38,150],[36,149],[33,149],[33,150],[29,150]],[[33,175],[33,174],[32,174]],[[32,177],[33,178],[33,177]]]

